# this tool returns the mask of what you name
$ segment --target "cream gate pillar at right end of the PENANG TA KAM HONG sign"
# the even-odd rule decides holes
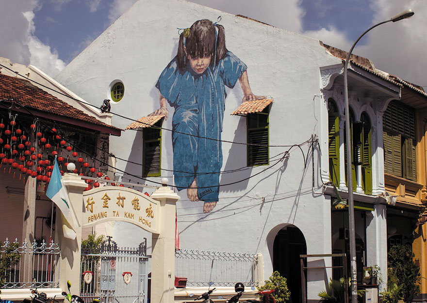
[[[175,215],[176,202],[180,198],[162,179],[164,186],[150,197],[160,202],[160,227],[152,234],[151,251],[151,302],[173,303],[175,282]]]

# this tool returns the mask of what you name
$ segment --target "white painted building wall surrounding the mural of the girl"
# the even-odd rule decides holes
[[[321,128],[327,116],[325,120],[319,68],[339,64],[341,60],[330,56],[318,40],[183,0],[136,2],[56,79],[85,100],[107,98],[112,83],[118,79],[124,83],[125,96],[112,104],[111,111],[139,119],[159,106],[155,83],[176,54],[179,39],[176,28],[190,27],[202,18],[216,20],[218,15],[222,16],[221,24],[225,27],[227,48],[248,66],[252,91],[274,98],[270,145],[299,144],[312,135],[319,136],[320,142],[326,140],[327,133],[325,138]],[[230,116],[242,97],[239,84],[228,90],[223,140],[246,141],[246,118]],[[172,128],[172,114],[173,109],[169,108],[170,118],[164,122],[164,128]],[[120,128],[130,123],[113,117],[113,125]],[[162,135],[162,168],[172,170],[171,132],[164,130]],[[287,149],[271,147],[270,155]],[[308,145],[302,146],[302,150],[307,157]],[[126,131],[120,137],[111,137],[110,151],[117,157],[141,163],[141,132]],[[326,151],[327,148],[323,149],[324,155]],[[223,143],[223,155],[222,170],[246,167],[244,145]],[[317,160],[315,152],[316,186],[321,183]],[[141,166],[121,160],[116,167],[135,175],[142,173]],[[249,167],[223,174],[220,180],[222,184],[243,180],[265,168]],[[172,180],[172,173],[164,171],[162,177]],[[304,234],[308,254],[331,253],[330,200],[317,187],[312,188],[311,158],[304,169],[303,154],[298,148],[293,148],[290,158],[277,166],[244,182],[221,187],[219,202],[208,215],[202,213],[201,202],[188,201],[185,191],[178,194],[181,248],[262,253],[267,278],[272,272],[274,237],[281,227],[291,224]],[[117,242],[137,245],[144,236],[150,238],[127,224],[115,225]],[[330,260],[325,259],[325,265],[330,265]],[[317,293],[325,288],[326,281],[324,273],[309,272],[308,298],[318,300]]]

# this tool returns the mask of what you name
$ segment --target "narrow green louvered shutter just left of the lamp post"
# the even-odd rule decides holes
[[[329,115],[329,180],[336,186],[340,183],[340,119],[338,115]]]

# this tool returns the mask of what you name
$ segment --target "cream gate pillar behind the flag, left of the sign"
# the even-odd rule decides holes
[[[83,212],[83,190],[87,184],[80,176],[74,173],[65,173],[63,182],[68,190],[71,205],[77,218],[82,218]],[[80,225],[80,222],[79,222]],[[61,211],[56,212],[56,239],[61,248],[61,265],[59,273],[59,287],[67,289],[67,280],[71,282],[71,294],[80,294],[80,255],[82,245],[82,227],[76,230],[76,239],[70,240],[64,237],[64,228],[71,228],[66,222]]]

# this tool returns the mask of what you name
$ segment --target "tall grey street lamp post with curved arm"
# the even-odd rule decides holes
[[[347,58],[344,63],[344,101],[345,101],[345,143],[347,153],[347,190],[348,190],[348,229],[350,233],[350,271],[351,271],[351,302],[357,303],[357,269],[356,269],[356,232],[354,225],[354,201],[353,201],[353,176],[351,173],[351,139],[350,139],[350,111],[348,105],[348,81],[347,81],[347,67],[348,61],[350,60],[351,52],[354,46],[359,42],[361,37],[364,36],[369,30],[387,23],[390,21],[396,22],[402,19],[411,17],[414,12],[411,9],[404,10],[403,12],[394,15],[390,20],[379,22],[369,29],[365,30],[359,38],[353,43],[350,51],[347,54]]]

